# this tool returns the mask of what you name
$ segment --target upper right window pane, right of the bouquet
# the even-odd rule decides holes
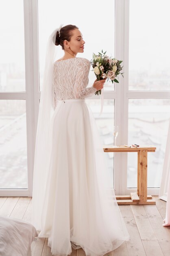
[[[170,90],[169,10],[169,0],[130,0],[129,90]]]

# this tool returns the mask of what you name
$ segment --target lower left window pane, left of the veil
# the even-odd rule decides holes
[[[0,189],[28,189],[25,100],[0,101]]]

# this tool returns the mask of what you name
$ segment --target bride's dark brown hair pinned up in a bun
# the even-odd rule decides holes
[[[72,30],[78,29],[78,27],[74,25],[66,25],[60,29],[60,37],[59,31],[56,33],[55,45],[61,45],[62,50],[64,50],[64,40],[70,42],[72,37]]]

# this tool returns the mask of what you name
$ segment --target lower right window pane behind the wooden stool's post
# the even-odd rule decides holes
[[[148,153],[148,187],[160,187],[170,120],[170,99],[129,99],[128,144],[153,145]],[[137,153],[128,153],[128,188],[137,187]]]

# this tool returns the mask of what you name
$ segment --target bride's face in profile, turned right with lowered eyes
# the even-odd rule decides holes
[[[84,52],[84,44],[83,35],[81,34],[79,29],[72,30],[72,37],[70,42],[67,42],[70,46],[69,49],[77,54],[78,52]]]

